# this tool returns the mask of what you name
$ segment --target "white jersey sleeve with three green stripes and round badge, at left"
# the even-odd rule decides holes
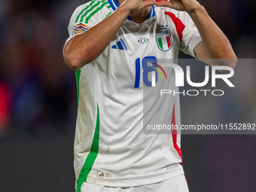
[[[75,9],[69,21],[69,38],[67,41],[75,35],[87,32],[109,14],[111,14],[111,6],[106,0],[87,2],[79,6]]]

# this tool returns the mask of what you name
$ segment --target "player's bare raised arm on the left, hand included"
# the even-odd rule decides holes
[[[87,32],[75,35],[63,47],[66,64],[77,71],[96,59],[111,42],[120,25],[134,11],[155,5],[153,0],[126,0],[117,10]]]

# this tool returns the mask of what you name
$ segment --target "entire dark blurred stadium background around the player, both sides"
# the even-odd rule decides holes
[[[85,2],[0,0],[0,191],[75,191],[75,73],[63,61],[62,47],[72,12]],[[230,39],[239,59],[256,57],[255,1],[199,2]],[[181,53],[181,58],[189,57]],[[196,76],[197,70],[202,67],[195,66]],[[236,93],[217,105],[181,98],[181,120],[189,124],[200,116],[206,123],[212,118],[255,123],[256,67],[240,65],[236,71]],[[181,138],[191,192],[256,191],[254,135]]]

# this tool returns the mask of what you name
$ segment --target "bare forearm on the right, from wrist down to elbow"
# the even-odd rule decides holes
[[[236,54],[233,52],[230,41],[228,41],[226,35],[218,28],[211,17],[209,17],[205,8],[200,5],[189,14],[200,32],[209,59],[222,59],[224,62],[229,59],[229,62],[224,63],[224,65],[234,67],[236,65]],[[212,64],[215,65],[215,63]]]

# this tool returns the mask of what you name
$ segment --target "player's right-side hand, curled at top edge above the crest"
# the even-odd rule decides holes
[[[157,7],[169,7],[178,11],[186,11],[188,14],[200,7],[196,0],[156,0]]]

